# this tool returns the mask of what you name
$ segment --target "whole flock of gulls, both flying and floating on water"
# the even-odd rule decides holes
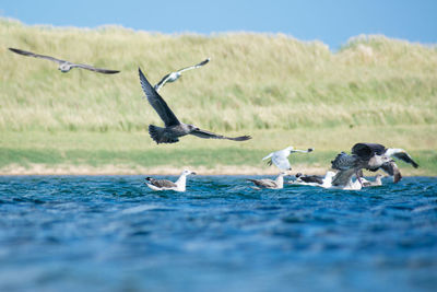
[[[90,65],[73,63],[67,60],[57,59],[50,56],[34,54],[31,51],[9,48],[11,51],[34,58],[40,58],[57,62],[61,72],[69,72],[73,68],[80,68],[85,70],[95,71],[104,74],[119,73],[118,70],[109,70],[95,68]],[[202,130],[194,125],[181,122],[173,110],[168,107],[167,103],[158,94],[158,91],[166,84],[175,82],[181,77],[181,73],[188,70],[201,68],[210,61],[210,58],[190,67],[182,68],[175,72],[170,72],[162,78],[162,80],[154,86],[147,81],[143,72],[139,68],[141,87],[147,98],[150,105],[155,109],[161,119],[164,121],[164,127],[157,127],[155,125],[149,125],[149,133],[151,138],[157,143],[176,143],[179,138],[192,135],[203,139],[227,139],[233,141],[246,141],[251,139],[250,136],[240,137],[226,137],[217,135],[208,130]],[[280,173],[275,179],[262,178],[253,179],[247,178],[251,182],[253,189],[282,189],[284,187],[284,177],[290,176],[292,166],[288,161],[288,156],[292,153],[310,153],[314,149],[298,150],[293,147],[287,147],[283,150],[279,150],[270,153],[262,160],[265,160],[268,165],[274,164]],[[326,173],[324,176],[319,175],[305,175],[302,173],[295,174],[295,179],[286,182],[288,185],[307,185],[322,188],[335,188],[335,189],[347,189],[358,190],[364,187],[381,186],[383,177],[381,174],[377,174],[374,180],[368,180],[363,176],[363,170],[370,172],[377,172],[382,170],[389,176],[393,177],[393,183],[398,183],[401,178],[401,172],[393,159],[398,159],[411,164],[413,167],[418,167],[418,164],[406,153],[403,149],[386,148],[378,143],[356,143],[352,147],[351,154],[345,152],[339,153],[333,161],[331,161],[331,170]],[[153,190],[175,190],[185,191],[187,185],[187,176],[196,175],[194,172],[185,170],[176,182],[168,179],[156,179],[153,177],[146,177],[145,184]]]

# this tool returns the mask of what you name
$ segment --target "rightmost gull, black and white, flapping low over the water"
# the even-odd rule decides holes
[[[418,164],[410,156],[409,153],[406,153],[405,150],[397,148],[386,148],[385,145],[378,143],[356,143],[352,148],[352,153],[361,157],[367,157],[369,155],[374,155],[375,157],[377,156],[394,157],[411,164],[414,168],[418,167]],[[402,174],[393,160],[385,162],[380,165],[379,164],[369,165],[367,170],[370,172],[377,172],[378,170],[382,170],[390,176],[393,176],[393,183],[398,183],[402,178]]]

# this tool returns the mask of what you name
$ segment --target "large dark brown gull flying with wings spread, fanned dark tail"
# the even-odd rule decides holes
[[[192,135],[203,139],[227,139],[233,141],[246,141],[251,139],[250,136],[240,137],[226,137],[217,133],[213,133],[206,130],[202,130],[193,125],[184,124],[178,120],[172,109],[168,107],[167,103],[161,97],[156,90],[145,79],[143,72],[139,68],[141,86],[147,97],[149,103],[160,115],[161,119],[164,121],[165,127],[157,127],[154,125],[149,125],[149,133],[151,138],[157,143],[176,143],[179,141],[179,137],[186,135]]]

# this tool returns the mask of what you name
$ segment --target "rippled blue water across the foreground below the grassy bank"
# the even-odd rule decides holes
[[[244,178],[156,192],[142,176],[0,177],[0,291],[436,291],[436,177]]]

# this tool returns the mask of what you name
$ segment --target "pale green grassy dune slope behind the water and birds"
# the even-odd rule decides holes
[[[14,55],[8,47],[119,69],[103,75]],[[162,125],[142,100],[141,67],[155,83],[211,57],[162,90],[184,121],[229,135],[235,143],[184,138],[156,147]],[[260,157],[293,144],[315,147],[298,165],[327,168],[354,142],[411,151],[437,175],[437,47],[385,36],[351,38],[338,52],[319,42],[276,34],[163,35],[107,26],[26,26],[0,19],[0,168],[11,165],[263,166]],[[164,154],[163,154],[164,153]]]

